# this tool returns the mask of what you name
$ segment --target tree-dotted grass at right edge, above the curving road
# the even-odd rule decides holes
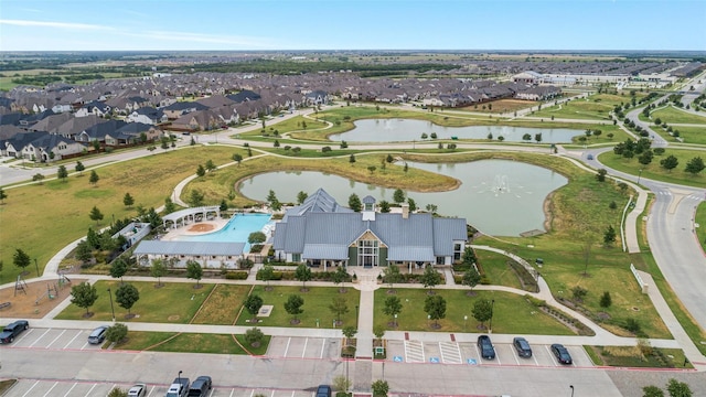
[[[665,170],[660,165],[660,161],[670,154],[673,154],[678,160],[678,165],[672,171]],[[633,175],[638,175],[640,170],[642,170],[642,178],[702,187],[706,185],[706,173],[704,171],[696,175],[692,175],[684,171],[686,163],[695,157],[706,159],[706,152],[699,150],[667,148],[664,154],[655,155],[652,162],[648,165],[641,164],[637,157],[625,159],[622,155],[617,155],[612,151],[600,154],[599,160],[607,167]]]

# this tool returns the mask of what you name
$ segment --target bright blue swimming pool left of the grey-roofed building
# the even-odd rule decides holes
[[[245,251],[250,250],[247,238],[253,232],[263,232],[270,237],[269,232],[274,222],[270,222],[269,214],[236,214],[225,226],[216,232],[206,233],[199,236],[179,236],[180,242],[210,242],[210,243],[245,243]]]

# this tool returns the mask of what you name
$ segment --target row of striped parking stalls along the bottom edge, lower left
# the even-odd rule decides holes
[[[116,385],[108,383],[85,382],[55,382],[22,379],[17,383],[3,397],[92,397],[107,396],[114,387],[127,390],[130,385]],[[148,385],[148,397],[161,397],[167,394],[169,385]],[[245,387],[220,387],[214,385],[208,397],[253,397],[255,395],[267,397],[311,397],[314,390],[287,390],[287,389],[253,389]]]

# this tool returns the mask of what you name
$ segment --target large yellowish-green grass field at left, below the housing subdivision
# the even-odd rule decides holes
[[[133,217],[138,205],[149,208],[164,204],[174,186],[194,174],[199,164],[208,159],[216,165],[231,162],[235,152],[245,153],[242,149],[224,147],[158,151],[153,155],[97,168],[100,180],[95,186],[88,183],[90,171],[86,170],[83,175],[71,175],[64,182],[54,180],[41,185],[6,189],[8,198],[0,205],[0,224],[3,225],[0,227],[0,260],[6,264],[0,272],[0,283],[14,281],[20,273],[20,269],[12,266],[17,248],[32,259],[36,258],[42,271],[54,254],[85,236],[88,227],[96,229],[109,225],[111,215],[116,218]],[[75,162],[66,163],[69,172],[74,165]],[[125,193],[135,197],[132,208],[122,204]],[[217,202],[225,196],[227,194],[221,195]],[[52,211],[45,211],[49,203]],[[98,225],[88,217],[94,205],[105,216]]]

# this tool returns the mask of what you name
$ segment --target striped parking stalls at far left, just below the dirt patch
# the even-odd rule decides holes
[[[99,350],[100,345],[88,343],[92,330],[30,329],[20,334],[12,344],[3,347],[32,347],[52,350]]]

